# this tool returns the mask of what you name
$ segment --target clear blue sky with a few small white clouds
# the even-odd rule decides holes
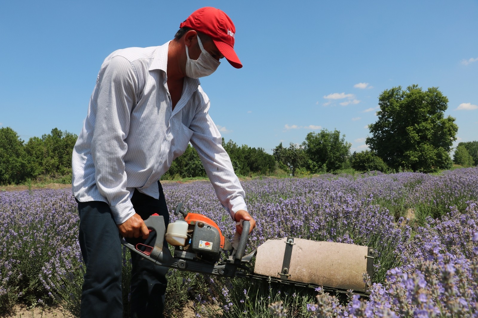
[[[271,149],[337,128],[366,149],[378,96],[437,86],[478,140],[478,1],[2,1],[0,127],[79,134],[109,53],[161,45],[204,6],[236,25],[244,67],[201,79],[222,136]]]

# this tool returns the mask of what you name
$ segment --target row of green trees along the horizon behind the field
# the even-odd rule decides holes
[[[370,124],[369,149],[350,153],[351,143],[337,129],[310,132],[301,144],[282,142],[273,154],[264,148],[239,146],[232,140],[222,146],[236,174],[271,175],[280,171],[293,176],[354,169],[382,172],[450,169],[452,143],[458,127],[445,117],[448,99],[436,87],[424,91],[418,85],[384,90],[379,96],[378,119]],[[25,143],[10,127],[0,128],[0,184],[26,180],[71,182],[71,157],[77,136],[57,128]],[[461,166],[478,164],[478,141],[460,142],[453,161]],[[174,159],[165,179],[206,177],[196,149],[187,146]]]

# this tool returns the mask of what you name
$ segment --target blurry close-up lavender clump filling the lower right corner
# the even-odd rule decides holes
[[[319,294],[312,317],[478,317],[478,210],[452,211],[444,221],[420,229],[407,262],[372,285],[368,301],[355,295],[347,305]],[[333,310],[332,310],[332,309]]]

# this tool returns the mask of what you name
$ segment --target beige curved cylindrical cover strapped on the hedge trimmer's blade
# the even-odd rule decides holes
[[[254,273],[281,277],[286,241],[284,237],[260,245]],[[367,246],[294,238],[287,280],[365,292],[362,275],[367,272],[368,252]]]

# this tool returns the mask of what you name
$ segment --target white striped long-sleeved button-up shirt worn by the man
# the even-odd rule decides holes
[[[157,181],[189,142],[223,207],[232,217],[247,211],[198,80],[185,77],[173,110],[168,46],[122,49],[105,59],[73,150],[73,194],[82,202],[107,202],[117,224],[135,213],[130,201],[134,189],[158,198]]]

